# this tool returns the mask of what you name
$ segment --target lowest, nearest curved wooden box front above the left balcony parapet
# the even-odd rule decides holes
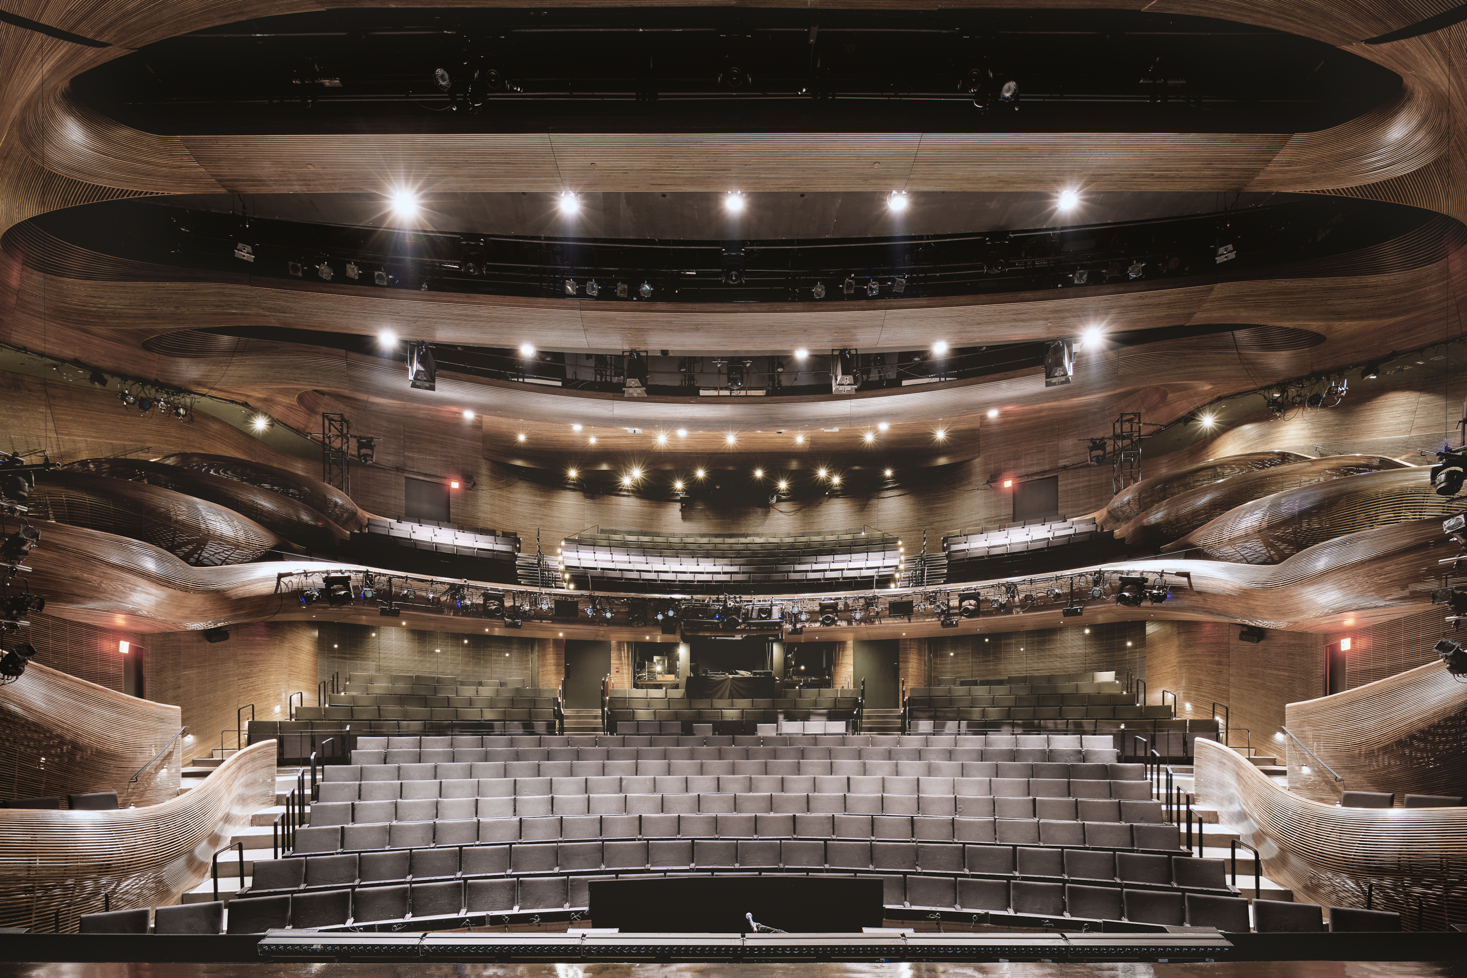
[[[285,541],[232,509],[183,493],[56,469],[26,500],[31,513],[73,526],[132,537],[194,566],[248,563]]]

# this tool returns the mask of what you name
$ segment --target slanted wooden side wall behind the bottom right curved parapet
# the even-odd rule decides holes
[[[1341,790],[1467,796],[1467,683],[1442,663],[1356,686],[1332,696],[1291,702],[1285,726],[1332,767],[1339,784],[1292,740],[1289,786],[1334,804]],[[1310,767],[1309,776],[1303,768]]]

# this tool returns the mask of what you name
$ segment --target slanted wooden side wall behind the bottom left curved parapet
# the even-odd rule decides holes
[[[126,808],[179,793],[178,707],[125,696],[32,661],[16,682],[0,686],[0,718],[4,798],[117,792]],[[142,771],[170,740],[172,749]],[[136,782],[129,780],[133,776]]]

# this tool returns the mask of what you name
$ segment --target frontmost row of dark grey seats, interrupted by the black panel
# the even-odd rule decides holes
[[[667,874],[687,875],[687,874]],[[742,875],[742,874],[741,874]],[[780,874],[791,875],[791,874]],[[645,878],[635,874],[634,878]],[[298,890],[273,896],[244,896],[224,903],[185,903],[160,906],[153,911],[154,934],[263,934],[268,930],[310,930],[365,924],[367,921],[421,919],[431,930],[433,921],[453,927],[467,913],[513,913],[553,909],[588,909],[590,884],[615,880],[618,875],[577,877],[503,877],[484,880],[436,880],[398,886],[355,886],[332,890]],[[883,903],[893,905],[896,884],[890,877],[883,887]],[[1146,924],[1215,927],[1221,931],[1248,930],[1248,902],[1240,897],[1182,893],[1182,913],[1178,919],[1177,900],[1166,891],[1137,887],[1115,889],[1089,884],[1059,884],[1027,880],[952,880],[908,874],[902,881],[899,906],[986,913],[1015,913],[1022,916],[1081,919],[1127,919]],[[952,902],[945,903],[952,883]],[[1056,906],[1053,887],[1064,886]],[[1153,899],[1159,897],[1159,899]],[[559,900],[559,902],[557,902]],[[450,908],[458,909],[450,909]],[[1288,903],[1282,900],[1253,900],[1253,925],[1257,933],[1317,933],[1325,930],[1323,909],[1317,903]],[[384,916],[378,916],[384,915]],[[1131,916],[1134,915],[1134,916]],[[227,927],[224,919],[227,916]],[[445,919],[449,918],[449,919]],[[1162,918],[1162,919],[1152,919]],[[1329,930],[1400,931],[1401,918],[1386,911],[1329,908]],[[147,934],[148,908],[84,913],[84,934]]]

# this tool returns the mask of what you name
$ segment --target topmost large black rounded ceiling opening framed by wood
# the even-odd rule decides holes
[[[1328,44],[1207,18],[672,7],[260,18],[75,87],[170,132],[1300,132],[1398,84]]]

